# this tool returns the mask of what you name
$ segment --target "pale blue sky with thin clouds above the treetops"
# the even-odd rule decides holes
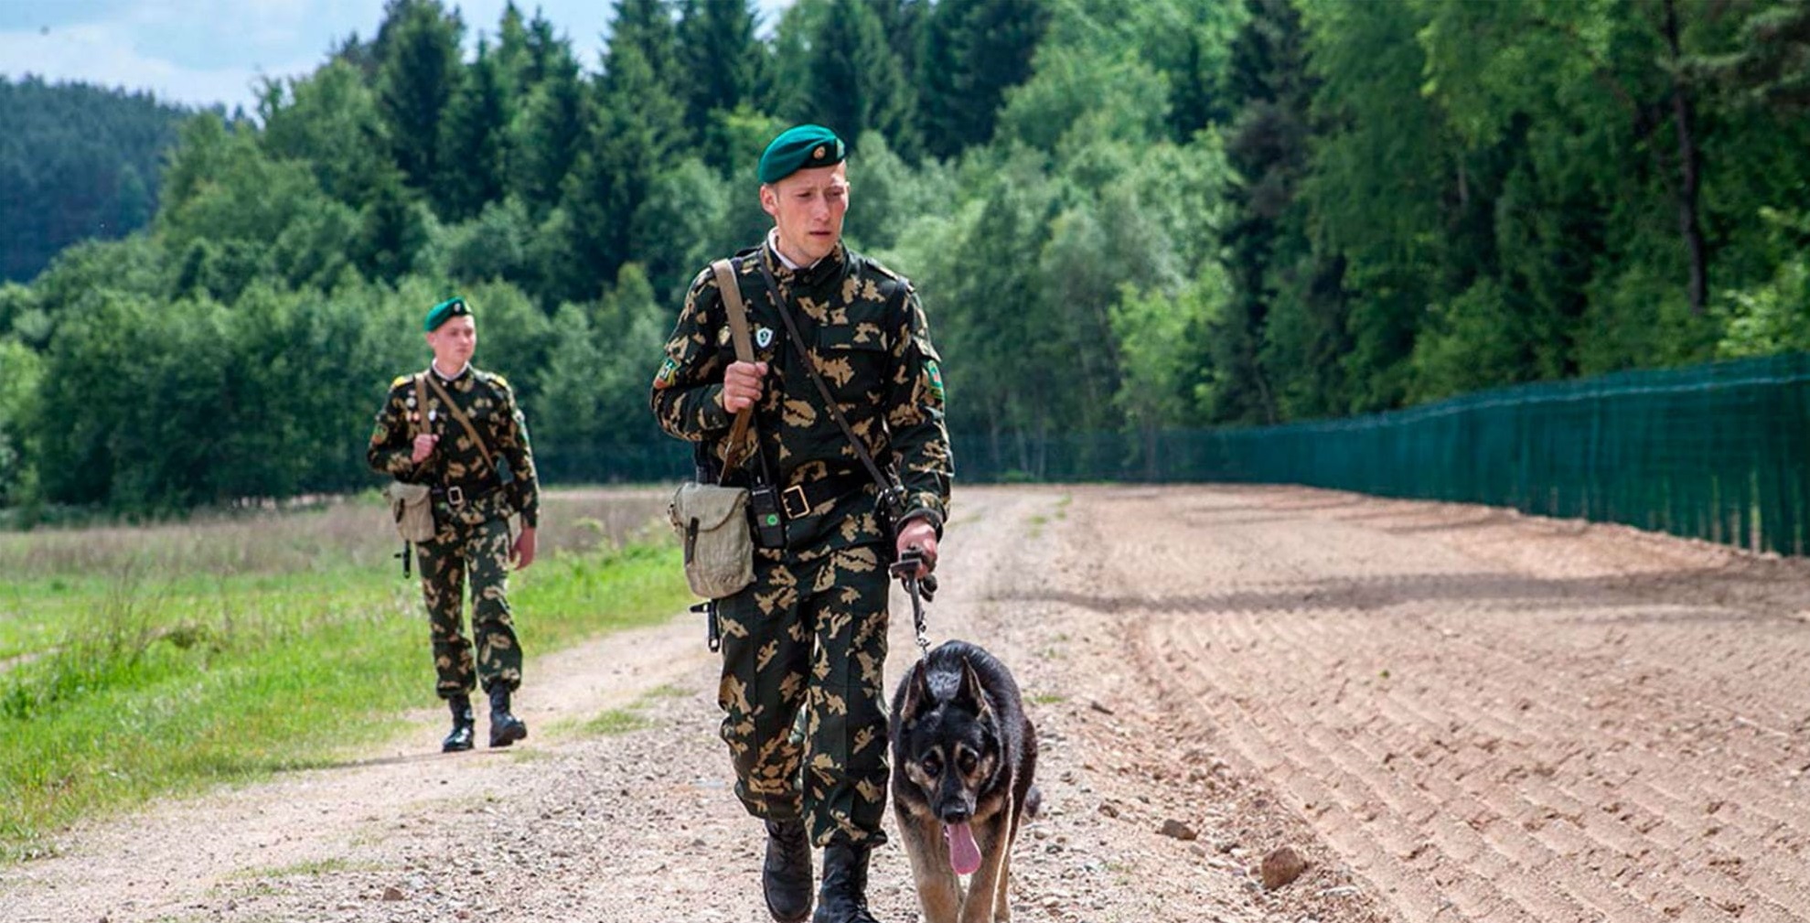
[[[451,0],[465,42],[496,34],[507,0]],[[771,25],[791,0],[758,0]],[[518,0],[539,7],[597,69],[614,0]],[[38,74],[105,87],[148,89],[159,100],[252,109],[261,76],[297,76],[320,65],[351,33],[376,34],[384,0],[0,0],[0,74]]]

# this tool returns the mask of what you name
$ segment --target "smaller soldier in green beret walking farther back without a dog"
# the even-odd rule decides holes
[[[452,731],[440,749],[472,747],[474,680],[491,697],[491,746],[507,747],[529,737],[529,726],[509,711],[509,697],[521,686],[521,644],[507,594],[510,559],[518,570],[534,563],[534,528],[539,525],[534,452],[509,382],[471,364],[478,326],[465,300],[436,304],[424,329],[434,360],[425,371],[391,382],[366,460],[380,474],[433,487],[438,534],[414,550],[433,630],[438,693],[452,709]],[[449,400],[463,411],[483,445],[472,440]],[[514,512],[521,514],[521,534],[510,543],[509,516]],[[463,633],[467,583],[476,670],[472,642]]]

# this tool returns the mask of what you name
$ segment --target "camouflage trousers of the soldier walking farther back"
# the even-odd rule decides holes
[[[442,699],[469,695],[474,680],[485,691],[496,684],[516,691],[521,686],[521,644],[509,615],[507,510],[467,509],[449,514],[443,503],[436,507],[440,532],[433,541],[414,547],[433,632],[436,691]],[[476,671],[472,641],[465,637],[467,583]]]

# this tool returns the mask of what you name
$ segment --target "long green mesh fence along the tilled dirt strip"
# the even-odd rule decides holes
[[[1810,357],[1481,391],[1406,411],[1146,436],[957,436],[963,483],[1305,483],[1805,554]]]

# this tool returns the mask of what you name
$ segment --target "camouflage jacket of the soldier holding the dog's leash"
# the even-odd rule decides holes
[[[780,487],[825,478],[867,481],[865,490],[793,518],[786,545],[827,552],[883,541],[874,518],[872,478],[825,411],[811,375],[791,347],[786,324],[767,295],[760,262],[773,270],[836,405],[874,462],[896,467],[905,485],[903,519],[925,518],[938,532],[948,512],[950,456],[943,427],[943,373],[930,328],[910,284],[842,244],[816,266],[789,270],[767,246],[744,250],[733,266],[748,308],[755,358],[769,373],[755,411],[755,431]],[[702,443],[720,460],[735,414],[722,407],[722,371],[735,362],[717,277],[706,268],[691,282],[666,360],[653,378],[653,414],[661,427]],[[744,463],[758,467],[758,460]]]

